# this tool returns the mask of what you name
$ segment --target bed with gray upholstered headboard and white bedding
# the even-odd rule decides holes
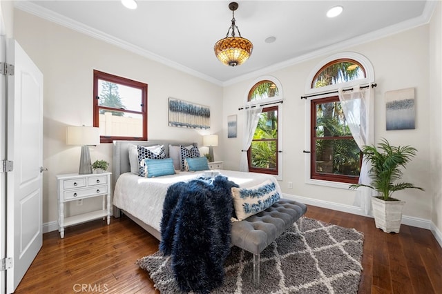
[[[169,157],[169,144],[173,146],[196,146],[192,142],[183,141],[114,141],[113,142],[113,215],[119,217],[120,211],[142,226],[148,233],[161,239],[160,221],[162,218],[162,204],[169,186],[176,182],[186,182],[195,179],[206,172],[180,171],[175,175],[146,178],[131,173],[129,163],[129,146],[157,146],[164,145],[166,157]],[[280,186],[275,177],[260,173],[242,173],[233,170],[219,170],[229,180],[240,188],[249,188],[266,181],[274,183],[278,193],[282,195]]]

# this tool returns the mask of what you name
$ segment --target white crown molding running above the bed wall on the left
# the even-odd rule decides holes
[[[41,6],[38,6],[35,3],[31,3],[29,1],[15,1],[14,6],[15,6],[15,8],[17,8],[19,10],[23,10],[24,12],[34,14],[37,17],[41,17],[42,19],[52,21],[54,23],[57,23],[61,26],[66,27],[66,28],[70,28],[70,29],[75,30],[77,32],[81,32],[84,35],[88,35],[88,36],[93,37],[95,39],[102,40],[106,43],[111,43],[114,46],[117,46],[117,47],[122,48],[124,50],[128,50],[128,51],[133,52],[137,55],[141,55],[142,57],[146,57],[148,59],[151,59],[153,61],[157,61],[158,63],[162,63],[165,66],[169,66],[171,68],[174,68],[175,70],[180,70],[182,72],[188,73],[189,75],[193,75],[194,77],[198,77],[200,79],[204,79],[205,81],[209,81],[212,84],[222,86],[222,81],[220,81],[218,79],[215,79],[215,78],[210,77],[208,75],[204,75],[201,72],[198,72],[196,70],[193,70],[191,68],[183,66],[182,64],[177,63],[175,61],[171,61],[170,59],[166,59],[160,55],[157,55],[151,51],[145,50],[139,46],[135,46],[135,45],[128,43],[126,41],[122,41],[121,39],[115,38],[111,35],[106,34],[105,32],[102,32],[101,30],[96,30],[94,28],[90,28],[90,26],[86,26],[83,23],[80,23],[79,21],[75,21],[75,20],[65,17],[57,12],[53,12],[51,10],[48,10],[48,9],[43,8]]]

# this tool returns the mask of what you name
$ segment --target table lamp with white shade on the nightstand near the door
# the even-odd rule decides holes
[[[79,175],[92,173],[88,145],[99,144],[99,128],[92,126],[68,126],[66,128],[66,144],[81,145]]]

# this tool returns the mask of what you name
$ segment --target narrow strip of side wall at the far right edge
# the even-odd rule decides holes
[[[432,228],[442,238],[442,3],[433,12],[430,23],[430,158],[433,195]],[[442,244],[442,239],[439,239]]]

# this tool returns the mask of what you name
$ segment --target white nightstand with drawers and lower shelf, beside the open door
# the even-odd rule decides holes
[[[57,175],[58,226],[61,238],[64,238],[64,228],[66,226],[88,222],[101,217],[107,217],[108,224],[111,222],[111,174],[91,173],[79,175],[71,173]],[[64,204],[66,202],[97,196],[103,197],[102,209],[65,217]]]

